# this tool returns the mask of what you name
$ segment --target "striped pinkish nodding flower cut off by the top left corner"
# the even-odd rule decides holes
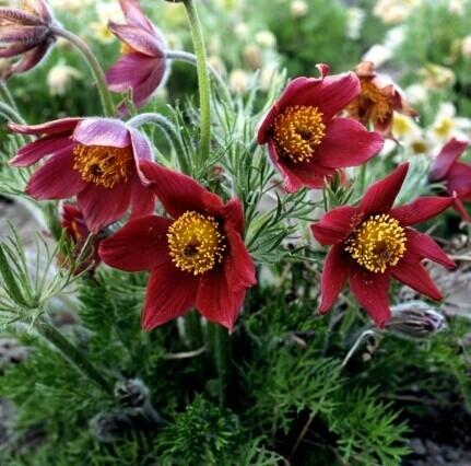
[[[52,12],[46,0],[26,0],[22,9],[0,8],[0,58],[22,58],[3,75],[35,67],[55,40]]]

